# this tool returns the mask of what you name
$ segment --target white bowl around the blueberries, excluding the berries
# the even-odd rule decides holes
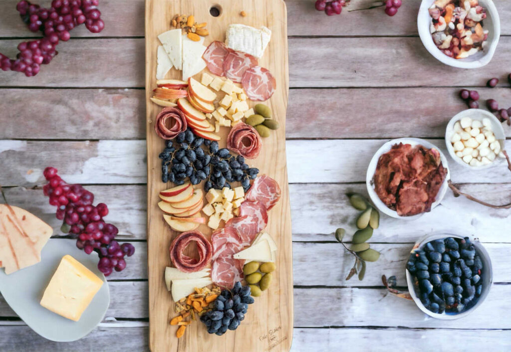
[[[445,312],[442,313],[442,314],[433,313],[429,309],[427,309],[424,306],[424,304],[421,302],[421,299],[419,297],[417,297],[417,295],[415,293],[415,288],[414,288],[414,285],[413,285],[412,275],[408,271],[408,269],[406,269],[406,266],[405,266],[406,284],[408,286],[408,292],[410,293],[410,296],[412,297],[413,301],[415,302],[415,304],[417,305],[417,307],[421,311],[423,311],[424,313],[426,313],[430,317],[433,317],[433,318],[436,318],[436,319],[441,319],[441,320],[456,320],[456,319],[459,319],[459,318],[466,317],[467,315],[469,315],[470,313],[475,311],[481,305],[481,303],[486,299],[487,295],[490,293],[490,290],[491,290],[492,284],[493,284],[493,267],[492,267],[492,260],[490,258],[490,254],[488,254],[488,252],[486,251],[486,248],[484,248],[484,246],[479,241],[479,239],[476,238],[473,235],[465,235],[465,236],[463,236],[461,234],[445,233],[445,232],[430,233],[430,234],[427,234],[426,236],[423,236],[419,240],[417,240],[417,242],[415,242],[415,244],[413,245],[413,248],[410,250],[410,253],[412,253],[416,248],[420,248],[420,247],[422,247],[424,244],[426,244],[428,242],[431,242],[431,241],[434,241],[434,240],[438,240],[438,239],[443,239],[443,238],[446,238],[446,237],[454,237],[454,238],[459,238],[459,239],[463,239],[465,237],[468,237],[470,239],[470,242],[472,242],[472,244],[476,248],[476,251],[478,252],[478,254],[480,256],[484,257],[485,261],[487,261],[487,264],[489,264],[489,267],[487,267],[487,268],[484,267],[484,270],[485,270],[484,272],[485,272],[485,275],[490,275],[490,280],[489,280],[489,282],[487,284],[487,287],[483,286],[483,290],[481,292],[481,295],[477,299],[476,304],[473,307],[469,308],[468,310],[463,311],[463,312],[458,313],[458,314],[446,314]],[[407,262],[408,262],[408,260],[407,260]]]

